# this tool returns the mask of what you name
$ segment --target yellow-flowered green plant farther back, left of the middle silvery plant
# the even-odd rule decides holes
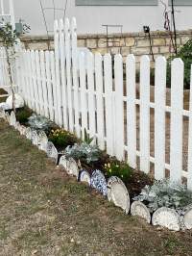
[[[65,148],[68,145],[73,145],[78,139],[64,129],[52,130],[49,135],[49,141],[52,141],[56,147]]]

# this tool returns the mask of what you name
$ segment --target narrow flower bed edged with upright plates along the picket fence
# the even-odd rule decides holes
[[[86,182],[108,196],[108,200],[126,214],[145,218],[148,223],[170,230],[192,228],[192,192],[187,191],[185,186],[172,184],[168,180],[154,182],[143,172],[109,157],[93,144],[93,139],[88,138],[86,132],[85,140],[80,141],[57,126],[54,129],[52,126],[49,132],[43,125],[42,129],[35,129],[34,125],[24,126],[16,120],[13,112],[10,115],[1,110],[0,117],[45,151],[69,175],[76,176],[78,181]]]

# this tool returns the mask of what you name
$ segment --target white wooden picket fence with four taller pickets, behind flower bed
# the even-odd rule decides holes
[[[156,59],[155,102],[150,102],[150,59],[140,61],[140,95],[136,97],[135,58],[123,58],[77,48],[76,20],[55,22],[55,52],[22,51],[17,84],[27,105],[37,114],[56,121],[66,130],[84,138],[84,129],[101,149],[127,160],[133,168],[150,172],[156,179],[187,179],[192,190],[192,96],[190,110],[183,109],[183,63],[172,64],[171,106],[166,106],[166,60]],[[114,71],[113,71],[114,70]],[[192,93],[191,93],[192,94]],[[139,123],[137,109],[139,106]],[[150,110],[155,109],[155,154],[150,153]],[[170,163],[165,161],[165,113],[171,114]],[[188,168],[182,170],[183,116],[189,118]],[[137,129],[137,126],[138,129]],[[139,160],[139,161],[138,161]]]

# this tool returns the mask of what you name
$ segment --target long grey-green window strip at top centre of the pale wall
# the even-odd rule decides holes
[[[158,0],[76,0],[77,6],[157,6],[157,4]]]

